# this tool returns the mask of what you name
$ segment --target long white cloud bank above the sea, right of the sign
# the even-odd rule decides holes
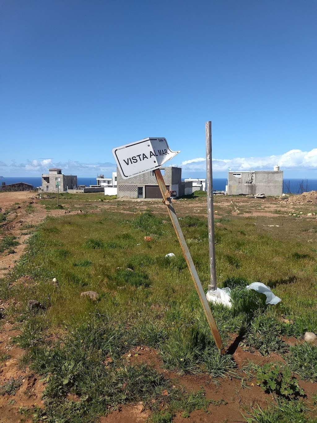
[[[198,157],[182,162],[184,170],[199,171],[206,169],[206,159]],[[290,150],[284,154],[266,157],[235,157],[234,159],[213,159],[214,172],[231,170],[273,169],[279,165],[281,170],[286,169],[317,169],[317,148],[311,151]]]

